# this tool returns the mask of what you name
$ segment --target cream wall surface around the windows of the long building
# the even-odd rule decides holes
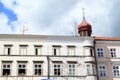
[[[74,37],[73,37],[74,38]],[[86,60],[94,62],[95,60],[93,57],[88,57],[89,55],[89,48],[84,49],[83,48],[83,42],[86,39],[80,39],[79,38],[74,38],[74,39],[69,39],[69,38],[62,38],[62,39],[32,39],[32,38],[11,38],[11,39],[6,39],[2,38],[0,39],[0,65],[1,61],[12,61],[12,75],[11,76],[17,76],[17,61],[27,61],[27,75],[28,76],[34,76],[33,74],[33,61],[43,61],[43,75],[47,76],[47,57],[46,56],[35,56],[34,54],[34,45],[42,45],[42,55],[53,55],[53,48],[52,45],[61,45],[60,49],[60,56],[66,56],[66,57],[50,57],[51,60],[53,61],[62,61],[62,75],[67,75],[67,68],[66,65],[68,65],[67,61],[76,61],[76,75],[78,76],[86,76]],[[92,40],[90,40],[91,43]],[[3,56],[4,54],[4,45],[7,44],[12,44],[12,51],[10,56]],[[27,55],[29,56],[20,56],[19,55],[19,45],[28,45],[27,46]],[[74,45],[75,46],[75,56],[77,57],[69,57],[68,56],[68,50],[67,46],[68,45]],[[93,44],[92,44],[93,45]],[[50,61],[50,66],[51,66],[51,73],[52,73],[52,61]],[[1,67],[0,67],[1,69]],[[0,71],[0,76],[2,75],[2,72]],[[3,78],[0,77],[0,80]],[[36,77],[36,79],[38,79]],[[34,79],[34,80],[36,80]],[[79,78],[76,77],[75,80],[86,80],[87,78]],[[12,79],[11,79],[12,80]],[[27,80],[27,79],[26,79]],[[62,79],[63,80],[63,79]],[[72,79],[74,80],[74,78]],[[87,80],[96,80],[96,76],[89,77]]]

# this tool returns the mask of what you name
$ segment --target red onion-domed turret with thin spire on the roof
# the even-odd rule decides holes
[[[91,36],[91,34],[92,34],[92,27],[91,27],[91,25],[85,20],[84,8],[83,8],[83,20],[82,20],[81,24],[78,25],[78,34],[79,34],[81,37]]]

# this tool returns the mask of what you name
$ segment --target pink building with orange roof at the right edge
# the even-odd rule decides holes
[[[120,80],[120,38],[95,38],[98,80]]]

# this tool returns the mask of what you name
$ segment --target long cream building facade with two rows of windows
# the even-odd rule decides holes
[[[0,34],[0,80],[97,80],[94,39]]]

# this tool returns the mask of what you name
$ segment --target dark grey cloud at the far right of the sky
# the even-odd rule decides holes
[[[117,0],[114,2],[114,5],[110,11],[109,19],[110,19],[110,27],[112,29],[111,36],[120,37],[120,1]]]

